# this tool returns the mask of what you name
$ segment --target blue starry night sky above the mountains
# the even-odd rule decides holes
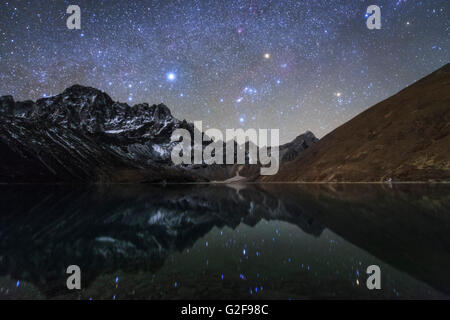
[[[81,30],[66,27],[81,8]],[[381,30],[366,8],[381,7]],[[450,61],[448,0],[1,1],[0,95],[78,83],[204,128],[322,137]]]

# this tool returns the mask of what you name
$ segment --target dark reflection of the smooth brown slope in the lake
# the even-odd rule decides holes
[[[301,203],[314,219],[347,241],[446,293],[450,293],[449,189],[445,184],[268,187],[284,203]]]

